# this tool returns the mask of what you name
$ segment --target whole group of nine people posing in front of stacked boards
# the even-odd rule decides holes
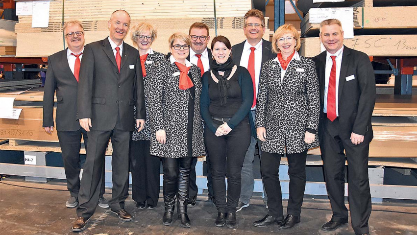
[[[68,48],[48,60],[43,126],[53,131],[56,91],[57,134],[71,193],[66,205],[78,206],[72,231],[85,229],[97,205],[132,220],[124,209],[129,167],[136,207],[155,208],[161,161],[163,224],[172,224],[176,204],[180,225],[191,227],[187,210],[196,205],[199,156],[206,156],[209,198],[218,211],[215,226],[235,228],[236,212],[249,206],[253,193],[256,144],[269,211],[253,225],[290,229],[301,218],[307,151],[320,143],[333,211],[321,229],[347,223],[347,159],[352,227],[356,234],[369,233],[375,80],[367,55],[343,46],[340,21],[320,24],[326,50],[313,60],[298,54],[300,35],[292,24],[280,26],[272,43],[263,40],[264,15],[255,9],[245,14],[246,40],[233,47],[217,36],[209,49],[209,28],[195,23],[189,35],[170,36],[168,55],[153,51],[157,30],[147,23],[130,28],[124,10],[111,15],[108,28],[109,37],[84,47],[82,25],[67,22]],[[129,28],[137,49],[123,42]],[[87,156],[80,182],[81,138]],[[107,202],[102,195],[109,141],[113,186]],[[284,154],[290,176],[285,217],[279,181]]]

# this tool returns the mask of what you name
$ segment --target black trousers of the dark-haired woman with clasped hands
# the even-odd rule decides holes
[[[222,124],[222,122],[214,121],[216,124]],[[219,137],[206,128],[204,142],[210,156],[213,196],[216,200],[217,210],[219,212],[236,212],[242,187],[242,166],[250,144],[249,121],[245,118],[229,134]]]

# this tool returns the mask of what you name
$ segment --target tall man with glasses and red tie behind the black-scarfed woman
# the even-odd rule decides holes
[[[269,41],[262,39],[265,33],[265,18],[260,10],[251,9],[245,14],[245,26],[243,28],[246,40],[232,47],[232,57],[235,64],[245,67],[252,77],[254,95],[258,93],[259,76],[261,74],[261,66],[267,60],[276,57],[272,53],[272,46]],[[252,120],[255,119],[256,112],[256,96],[252,105]],[[250,198],[253,194],[255,184],[253,178],[253,158],[255,155],[256,143],[261,146],[261,141],[257,140],[255,126],[251,121],[252,137],[250,139],[249,148],[246,151],[245,161],[242,167],[242,189],[237,211],[248,207]]]

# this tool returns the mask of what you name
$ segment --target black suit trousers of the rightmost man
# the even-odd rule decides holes
[[[353,144],[349,137],[340,135],[339,119],[333,122],[325,118],[320,138],[324,178],[333,221],[346,221],[348,211],[344,205],[344,163],[347,160],[348,199],[352,227],[355,233],[369,232],[368,220],[372,210],[368,176],[369,143]],[[346,152],[346,155],[343,153]]]

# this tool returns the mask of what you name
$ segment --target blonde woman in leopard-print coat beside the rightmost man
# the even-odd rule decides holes
[[[280,222],[278,228],[283,230],[300,222],[307,150],[319,145],[319,79],[314,62],[297,53],[299,47],[297,30],[292,24],[284,24],[272,37],[277,58],[262,65],[255,126],[262,141],[261,171],[269,212],[253,223],[258,227]],[[290,176],[285,219],[278,175],[284,153]]]

